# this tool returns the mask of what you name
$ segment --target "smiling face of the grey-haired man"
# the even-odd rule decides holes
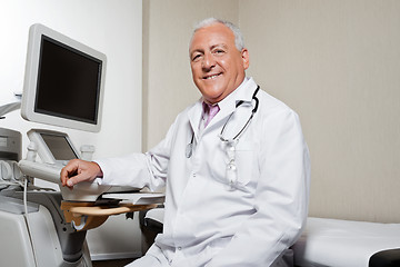
[[[221,101],[244,79],[247,49],[234,46],[233,32],[221,23],[199,29],[189,48],[193,81],[209,103]]]

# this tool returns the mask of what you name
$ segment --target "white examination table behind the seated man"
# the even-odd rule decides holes
[[[146,250],[162,231],[163,209],[140,217]],[[298,267],[400,267],[400,224],[309,217],[292,249]]]

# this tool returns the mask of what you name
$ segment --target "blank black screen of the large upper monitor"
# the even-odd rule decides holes
[[[42,36],[34,111],[97,123],[102,62]]]

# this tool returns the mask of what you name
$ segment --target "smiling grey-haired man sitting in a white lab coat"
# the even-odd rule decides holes
[[[147,154],[72,160],[63,186],[166,187],[163,233],[131,266],[289,266],[304,227],[310,164],[297,113],[246,77],[239,29],[207,19],[190,65],[202,98]]]

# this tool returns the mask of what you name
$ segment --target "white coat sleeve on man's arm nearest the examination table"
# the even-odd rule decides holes
[[[254,214],[207,266],[271,266],[298,239],[308,214],[309,154],[298,116],[263,121]]]

